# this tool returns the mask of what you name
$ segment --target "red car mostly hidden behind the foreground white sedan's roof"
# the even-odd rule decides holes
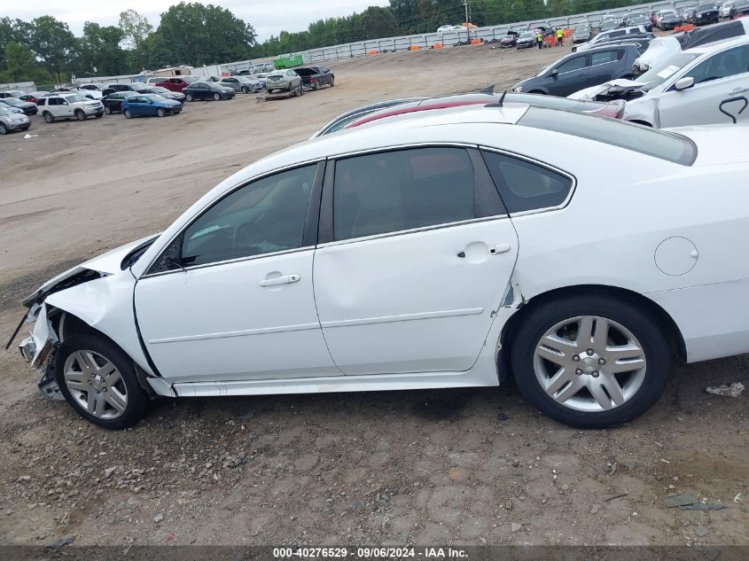
[[[346,129],[358,127],[364,123],[371,121],[378,121],[379,119],[385,119],[386,117],[393,117],[395,115],[402,115],[404,113],[416,113],[419,111],[429,111],[432,109],[447,109],[449,107],[460,107],[463,105],[490,105],[497,103],[500,99],[500,95],[496,94],[463,94],[457,96],[447,97],[432,97],[430,99],[424,99],[421,101],[414,101],[411,103],[404,103],[400,105],[394,105],[388,109],[371,113],[362,117],[358,121],[354,121],[346,126]],[[617,99],[610,102],[601,101],[582,101],[580,99],[567,99],[566,97],[554,97],[554,96],[543,96],[540,94],[524,94],[524,93],[507,93],[504,96],[504,103],[521,103],[531,104],[540,107],[548,107],[550,109],[561,109],[565,111],[573,111],[576,113],[589,113],[595,114],[602,117],[612,117],[614,119],[620,119],[621,113],[624,112],[625,102]]]

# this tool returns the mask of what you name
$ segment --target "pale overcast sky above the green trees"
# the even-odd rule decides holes
[[[84,21],[101,25],[116,25],[120,12],[132,8],[148,18],[153,27],[159,16],[176,0],[0,0],[0,16],[30,19],[51,15],[65,21],[75,35],[81,35]],[[367,6],[388,4],[387,0],[214,0],[201,4],[215,4],[227,8],[238,18],[254,26],[258,39],[264,41],[282,30],[302,31],[317,19],[345,16],[362,12]]]

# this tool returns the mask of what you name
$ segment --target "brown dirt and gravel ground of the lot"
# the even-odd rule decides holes
[[[568,48],[565,48],[568,51]],[[210,187],[334,115],[388,97],[502,90],[560,56],[488,46],[332,64],[336,87],[199,102],[0,140],[0,333],[52,274],[163,229]],[[677,368],[635,423],[580,432],[499,389],[161,401],[106,432],[0,353],[0,543],[749,544],[749,415]],[[721,510],[667,508],[691,493]]]

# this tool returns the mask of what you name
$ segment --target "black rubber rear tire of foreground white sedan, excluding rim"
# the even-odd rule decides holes
[[[634,302],[607,296],[572,296],[550,301],[528,312],[511,339],[512,372],[520,392],[542,413],[576,428],[607,428],[622,425],[650,409],[663,393],[671,368],[668,341],[662,328]],[[601,316],[631,331],[644,348],[647,370],[643,385],[627,402],[600,412],[569,409],[550,398],[534,373],[535,347],[553,325],[575,316]]]

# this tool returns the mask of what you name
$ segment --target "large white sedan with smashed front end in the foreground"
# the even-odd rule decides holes
[[[156,395],[509,375],[549,417],[619,425],[672,362],[749,352],[747,142],[501,103],[322,136],[44,284],[21,353],[109,428]]]

